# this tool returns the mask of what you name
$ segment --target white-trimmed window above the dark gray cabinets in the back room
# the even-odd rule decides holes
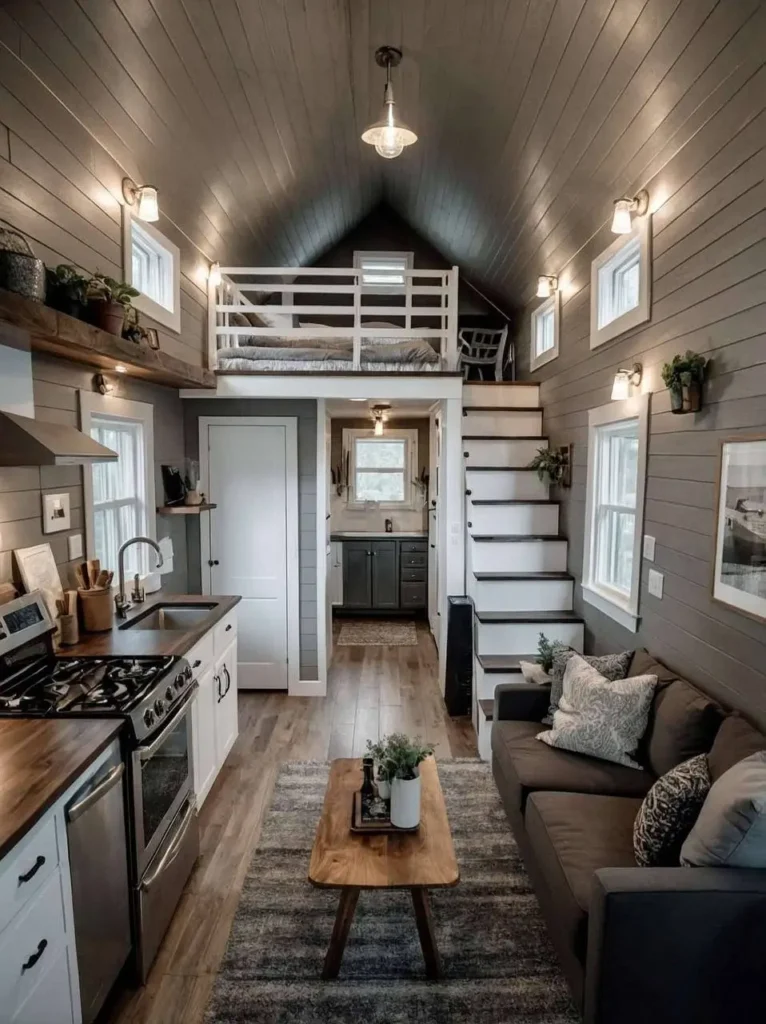
[[[343,450],[348,452],[349,505],[412,507],[417,430],[386,430],[376,437],[372,430],[346,429]]]

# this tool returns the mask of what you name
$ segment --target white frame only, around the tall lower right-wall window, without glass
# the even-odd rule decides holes
[[[598,430],[626,420],[638,420],[638,460],[636,481],[636,529],[633,538],[633,572],[630,596],[625,599],[612,589],[596,583],[595,511],[597,483]],[[609,615],[631,633],[638,631],[638,605],[641,590],[641,550],[643,544],[644,497],[646,492],[646,455],[649,432],[649,395],[641,394],[625,401],[612,401],[588,413],[588,483],[585,511],[585,551],[583,555],[583,600]]]

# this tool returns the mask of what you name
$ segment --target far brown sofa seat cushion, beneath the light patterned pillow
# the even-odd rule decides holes
[[[495,722],[493,759],[506,783],[504,799],[521,813],[530,793],[595,793],[644,798],[654,781],[649,772],[541,743],[538,722]]]

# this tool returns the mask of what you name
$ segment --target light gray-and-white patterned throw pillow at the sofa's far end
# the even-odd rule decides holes
[[[649,720],[656,676],[609,682],[574,654],[564,673],[564,692],[553,728],[538,739],[576,754],[639,768],[633,756]]]

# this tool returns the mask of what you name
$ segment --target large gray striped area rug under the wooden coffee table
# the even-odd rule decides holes
[[[488,765],[439,761],[460,863],[431,904],[445,978],[426,981],[409,893],[363,892],[340,977],[320,980],[338,893],[306,881],[327,765],[283,766],[207,1024],[574,1024]]]

